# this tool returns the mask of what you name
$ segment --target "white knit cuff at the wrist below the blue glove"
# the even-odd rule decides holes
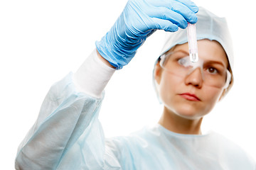
[[[95,49],[75,72],[73,82],[78,91],[95,98],[101,98],[102,91],[115,70],[100,60]]]

